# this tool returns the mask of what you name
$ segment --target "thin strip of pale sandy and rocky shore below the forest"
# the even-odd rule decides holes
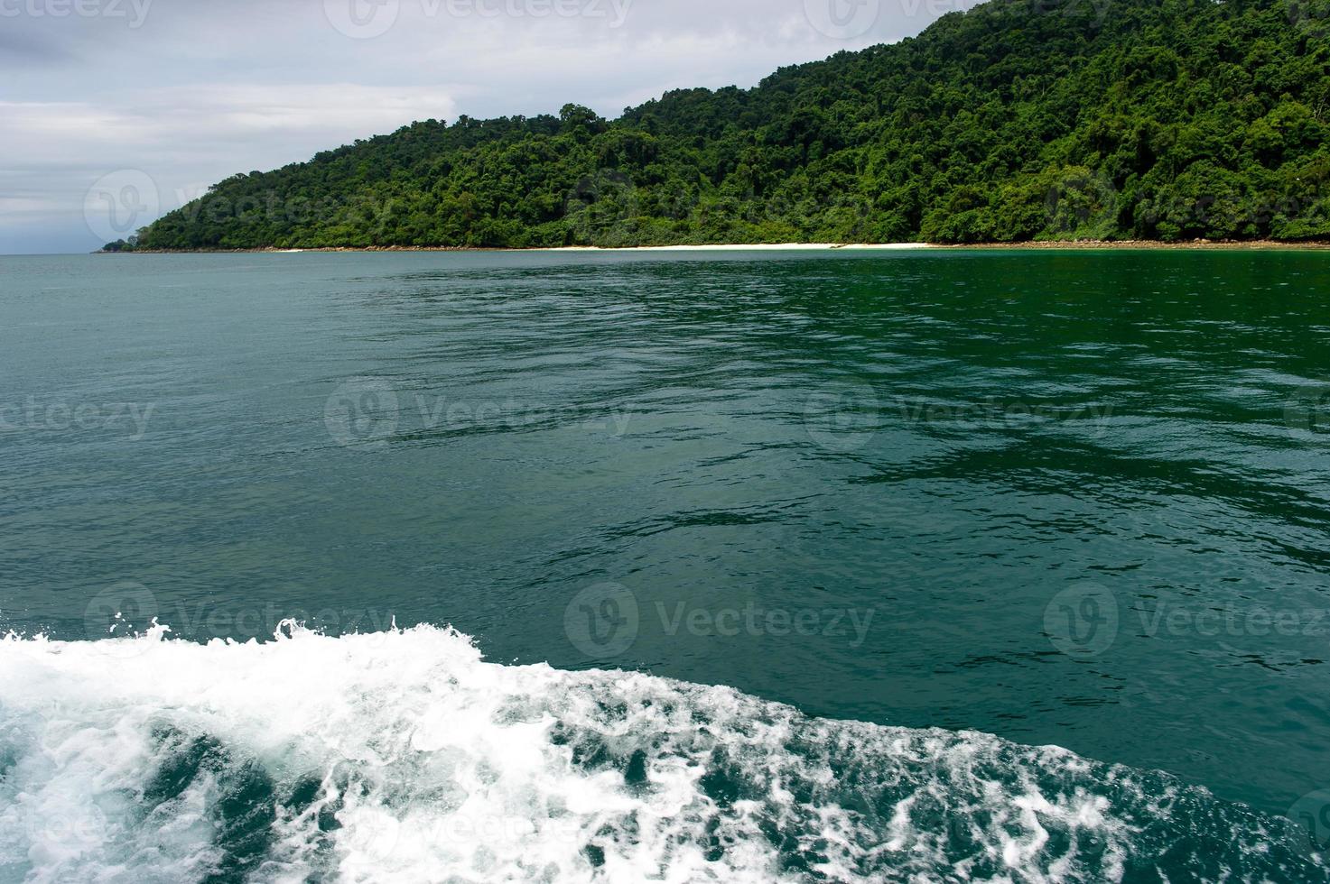
[[[1330,242],[1285,242],[1277,239],[1221,241],[1194,239],[1162,242],[1156,239],[1077,239],[1032,242],[789,242],[789,243],[706,243],[689,246],[551,246],[531,249],[468,247],[468,246],[325,246],[317,249],[132,249],[124,251],[98,250],[94,255],[211,255],[211,254],[278,254],[303,253],[376,253],[376,251],[548,251],[548,253],[616,253],[616,251],[1115,251],[1115,250],[1188,250],[1188,251],[1325,251]]]

